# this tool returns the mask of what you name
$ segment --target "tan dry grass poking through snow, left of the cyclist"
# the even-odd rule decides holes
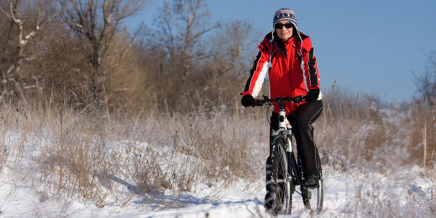
[[[161,198],[165,191],[177,196],[199,183],[225,180],[228,186],[238,178],[262,177],[259,156],[264,154],[251,150],[261,145],[259,138],[266,142],[265,132],[235,113],[149,111],[133,116],[44,103],[2,105],[0,166],[26,169],[20,175],[42,182],[52,201],[63,194],[99,207],[107,198],[126,205],[136,198]],[[257,137],[246,137],[247,129]],[[125,194],[126,188],[131,194]]]

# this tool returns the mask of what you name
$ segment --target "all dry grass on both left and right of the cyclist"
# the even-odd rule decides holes
[[[266,108],[109,113],[49,102],[23,97],[2,103],[0,167],[42,184],[51,201],[61,194],[98,207],[107,199],[124,207],[138,198],[144,205],[180,207],[177,196],[202,183],[224,189],[239,179],[247,187],[263,180]],[[428,106],[385,107],[341,92],[327,93],[324,106],[314,124],[324,165],[392,174],[400,165],[423,164],[422,122],[429,136],[435,124]],[[434,146],[427,138],[427,164],[434,163]]]

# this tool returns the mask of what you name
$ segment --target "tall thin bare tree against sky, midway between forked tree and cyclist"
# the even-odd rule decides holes
[[[192,64],[207,56],[203,44],[206,33],[219,27],[209,24],[210,14],[204,0],[165,2],[157,14],[157,31],[153,44],[160,45],[182,81],[192,71]]]

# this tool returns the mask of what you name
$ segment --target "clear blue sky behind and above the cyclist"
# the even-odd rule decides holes
[[[128,21],[151,27],[161,0],[152,0]],[[356,95],[409,100],[416,94],[413,74],[422,74],[425,52],[436,50],[436,0],[206,0],[212,21],[250,20],[259,42],[272,30],[272,16],[287,7],[315,49],[320,83]],[[248,75],[249,69],[247,69]]]

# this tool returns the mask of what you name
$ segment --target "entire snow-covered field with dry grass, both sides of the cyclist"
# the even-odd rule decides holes
[[[320,146],[323,210],[311,213],[295,193],[286,217],[436,217],[435,170],[405,164],[405,146],[415,143],[402,125],[410,115],[385,114],[324,132],[334,143]],[[11,112],[0,126],[0,218],[271,217],[263,208],[266,136],[257,127],[265,122],[214,116],[96,129],[101,119],[72,114],[74,125],[60,132],[57,119]]]

